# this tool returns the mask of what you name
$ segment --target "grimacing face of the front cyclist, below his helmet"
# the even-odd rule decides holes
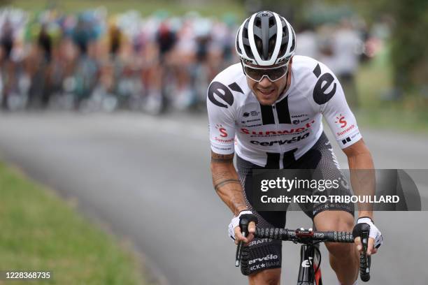
[[[287,79],[289,77],[288,74],[290,73],[291,66],[292,66],[292,59],[290,59],[287,75],[273,82],[269,80],[267,76],[264,76],[264,78],[260,82],[252,80],[247,76],[248,86],[250,87],[252,92],[255,94],[260,104],[273,105],[273,103],[275,103],[278,100],[280,94],[283,93],[285,87],[287,86]],[[273,66],[269,66],[269,67],[273,67]]]

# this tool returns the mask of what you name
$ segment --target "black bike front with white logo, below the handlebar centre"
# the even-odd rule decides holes
[[[321,269],[319,268],[315,272],[320,261],[318,260],[318,256],[315,255],[315,250],[308,250],[309,247],[313,247],[313,245],[302,244],[300,247],[300,266],[297,285],[322,285]],[[320,244],[315,244],[315,247],[320,247]]]

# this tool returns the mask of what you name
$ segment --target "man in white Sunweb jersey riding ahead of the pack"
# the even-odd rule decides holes
[[[357,195],[362,193],[358,187],[361,181],[352,170],[373,169],[371,154],[336,76],[315,59],[294,56],[295,49],[294,30],[284,17],[271,11],[255,13],[236,35],[241,63],[224,69],[208,87],[213,185],[234,213],[229,235],[236,243],[243,241],[250,247],[250,284],[279,284],[281,244],[254,239],[254,222],[250,223],[250,235],[244,238],[239,217],[250,214],[262,227],[285,227],[285,212],[257,212],[252,207],[253,169],[315,169],[326,179],[341,175],[323,132],[322,116],[348,156]],[[238,171],[233,164],[234,152]],[[369,184],[373,182],[369,177]],[[350,195],[346,185],[338,191]],[[352,204],[315,203],[310,208],[306,214],[318,231],[352,231]],[[382,242],[372,218],[369,209],[360,209],[355,225],[371,226],[368,254],[376,253]],[[339,284],[356,282],[358,250],[362,249],[358,239],[357,247],[326,244]]]

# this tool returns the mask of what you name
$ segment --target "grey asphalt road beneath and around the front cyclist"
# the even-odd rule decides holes
[[[428,168],[428,137],[362,130],[377,168]],[[0,114],[0,155],[134,242],[169,284],[245,284],[227,237],[231,214],[213,191],[203,115]],[[336,148],[342,166],[345,157]],[[422,187],[426,185],[420,178]],[[422,196],[427,196],[424,191]],[[1,198],[1,192],[0,192]],[[378,212],[385,244],[370,284],[425,284],[428,212]],[[311,226],[290,212],[287,227]],[[322,246],[324,284],[337,284]],[[299,247],[284,244],[283,283]]]

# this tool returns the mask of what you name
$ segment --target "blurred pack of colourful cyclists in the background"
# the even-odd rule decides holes
[[[159,113],[205,108],[209,82],[238,61],[237,22],[234,15],[218,20],[195,12],[142,17],[137,11],[111,16],[105,8],[77,14],[3,8],[1,109]],[[342,22],[334,31],[326,26],[316,33],[302,26],[297,54],[337,68],[341,81],[351,80],[355,89],[353,74],[364,43],[370,42],[351,26]]]

